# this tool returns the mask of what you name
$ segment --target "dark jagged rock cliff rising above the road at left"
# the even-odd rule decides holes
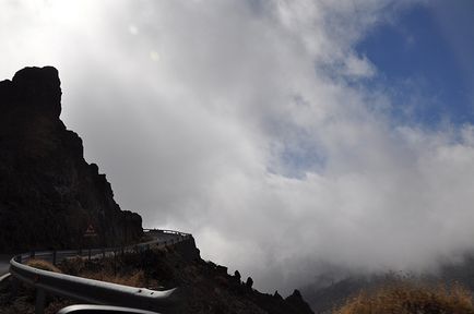
[[[60,113],[55,68],[0,82],[0,252],[119,245],[142,234],[141,217],[120,210]],[[85,239],[90,224],[97,237]]]

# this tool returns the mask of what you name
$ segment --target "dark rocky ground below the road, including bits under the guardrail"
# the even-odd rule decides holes
[[[36,261],[35,267],[61,271],[96,280],[149,289],[178,287],[179,302],[164,313],[182,314],[310,314],[313,313],[298,290],[287,298],[261,293],[252,288],[251,278],[242,280],[238,271],[200,257],[194,240],[167,247],[151,247],[141,253],[126,253],[116,257],[87,261],[72,258],[57,265]],[[22,288],[15,297],[8,282],[0,285],[1,313],[34,313],[34,291]],[[74,304],[61,298],[47,299],[46,313]]]

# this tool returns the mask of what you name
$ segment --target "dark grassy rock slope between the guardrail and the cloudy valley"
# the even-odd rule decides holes
[[[72,262],[64,264],[62,269],[68,274],[96,279],[97,275],[104,274],[108,274],[105,278],[126,278],[127,274],[131,275],[128,278],[132,281],[139,278],[130,286],[179,287],[182,302],[177,313],[312,313],[297,290],[286,299],[279,293],[261,293],[252,288],[251,278],[240,278],[238,271],[229,275],[227,267],[203,261],[193,239],[166,249],[129,254],[119,261],[109,258],[88,265]],[[116,269],[120,270],[117,273]]]

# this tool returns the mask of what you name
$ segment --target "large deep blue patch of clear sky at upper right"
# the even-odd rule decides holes
[[[436,128],[474,123],[474,1],[434,1],[404,12],[356,50],[378,69],[366,84],[388,89],[393,116]]]

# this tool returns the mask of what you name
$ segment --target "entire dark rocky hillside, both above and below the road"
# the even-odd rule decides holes
[[[84,160],[81,138],[66,129],[60,113],[56,69],[26,68],[0,82],[0,253],[145,241],[141,217],[120,209],[105,174]],[[85,239],[90,225],[97,237]],[[47,269],[151,289],[179,287],[180,313],[312,313],[298,290],[286,299],[261,293],[250,278],[242,281],[238,273],[232,276],[226,267],[204,262],[193,239],[57,266]],[[15,294],[9,285],[0,283],[0,312],[33,313],[33,290],[23,287]],[[56,313],[71,301],[48,297],[48,303],[47,313]]]

